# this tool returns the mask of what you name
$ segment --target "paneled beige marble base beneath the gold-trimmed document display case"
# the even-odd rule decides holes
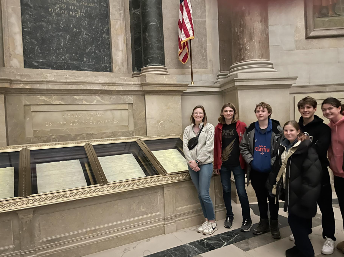
[[[225,217],[219,176],[216,219]],[[101,211],[99,211],[101,210]],[[0,214],[1,256],[84,256],[201,224],[191,180]]]

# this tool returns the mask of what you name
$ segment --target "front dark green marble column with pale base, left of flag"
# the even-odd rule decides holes
[[[161,0],[140,0],[142,33],[142,74],[168,75],[165,66]]]

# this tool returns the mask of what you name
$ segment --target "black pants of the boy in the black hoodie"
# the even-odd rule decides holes
[[[318,205],[321,211],[321,225],[323,228],[323,238],[328,237],[336,241],[334,213],[332,207],[332,188],[330,174],[327,167],[323,167],[320,197]],[[339,198],[338,198],[339,199]]]

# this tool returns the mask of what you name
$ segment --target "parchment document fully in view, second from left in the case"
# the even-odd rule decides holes
[[[36,165],[38,193],[86,187],[79,160],[55,161]]]

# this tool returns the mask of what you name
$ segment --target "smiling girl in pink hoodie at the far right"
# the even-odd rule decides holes
[[[333,171],[334,190],[344,221],[344,105],[336,98],[326,98],[321,104],[324,116],[330,120],[331,145],[329,148],[330,168]],[[337,245],[337,249],[344,253],[344,241]]]

